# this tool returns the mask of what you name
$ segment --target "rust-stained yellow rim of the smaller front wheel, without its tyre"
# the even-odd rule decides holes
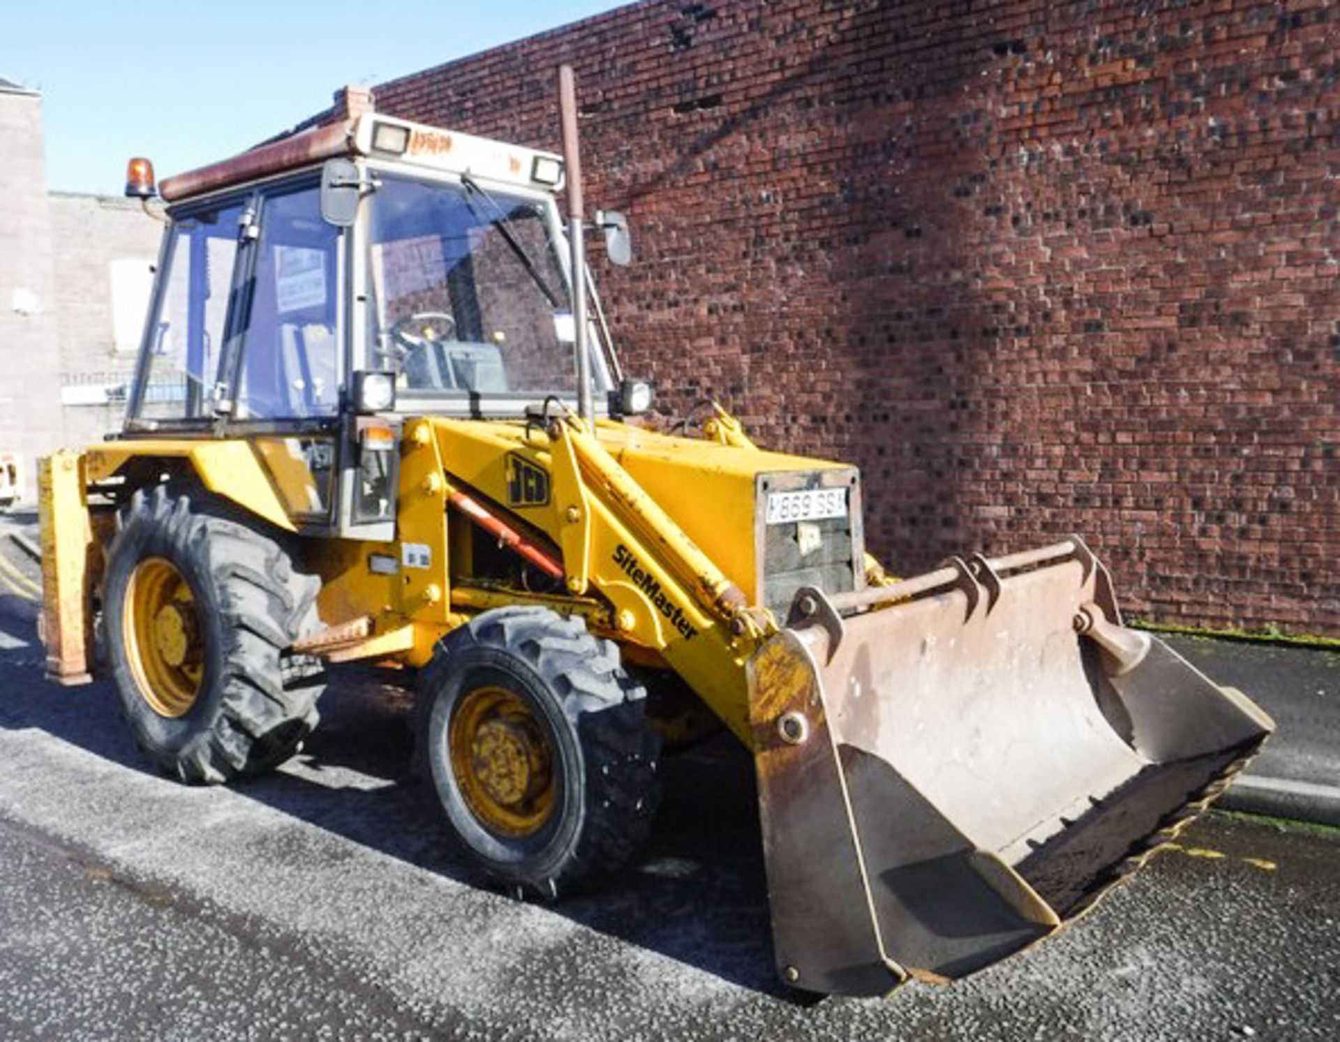
[[[461,696],[448,730],[452,773],[474,818],[500,836],[532,836],[553,812],[553,754],[531,709],[503,687]]]

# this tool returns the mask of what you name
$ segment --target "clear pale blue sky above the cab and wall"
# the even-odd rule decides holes
[[[21,3],[0,76],[42,91],[47,186],[121,194],[221,159],[374,84],[622,7],[610,0]]]

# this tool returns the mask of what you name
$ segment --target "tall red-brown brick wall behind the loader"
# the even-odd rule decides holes
[[[911,572],[1071,530],[1159,621],[1340,635],[1340,9],[650,0],[375,88],[555,147],[634,372],[852,459]]]

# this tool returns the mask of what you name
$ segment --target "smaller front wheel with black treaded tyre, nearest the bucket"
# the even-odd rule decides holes
[[[419,757],[470,860],[556,899],[642,850],[661,739],[614,642],[547,608],[484,612],[421,676]]]

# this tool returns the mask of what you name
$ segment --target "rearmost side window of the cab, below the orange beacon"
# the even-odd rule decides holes
[[[224,342],[228,293],[237,256],[241,204],[180,218],[172,230],[158,311],[149,327],[143,419],[198,419],[213,413],[210,392]]]

